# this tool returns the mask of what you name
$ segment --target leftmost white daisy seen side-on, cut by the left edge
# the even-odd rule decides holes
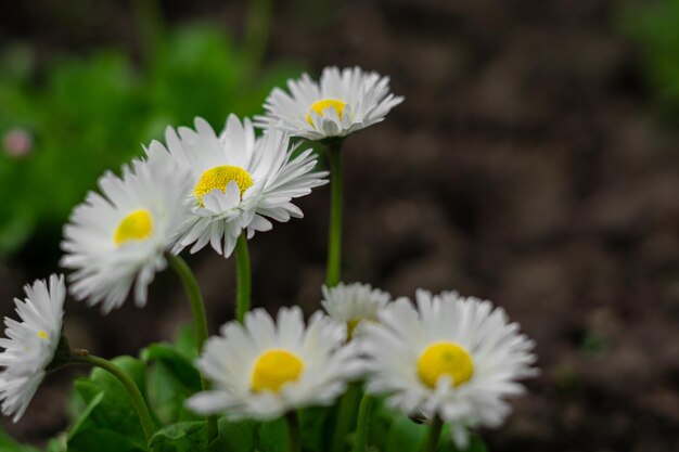
[[[51,275],[24,287],[26,299],[15,299],[21,321],[4,319],[7,338],[0,338],[0,400],[2,414],[17,422],[44,378],[62,333],[66,286]]]

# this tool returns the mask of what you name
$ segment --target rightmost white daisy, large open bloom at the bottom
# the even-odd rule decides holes
[[[367,389],[408,415],[439,416],[464,447],[466,427],[499,426],[504,399],[524,391],[517,380],[536,375],[534,343],[489,301],[425,290],[417,299],[418,310],[400,299],[366,325]]]

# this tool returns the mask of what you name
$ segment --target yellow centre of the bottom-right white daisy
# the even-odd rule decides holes
[[[420,356],[418,375],[430,388],[435,388],[441,376],[449,376],[453,386],[460,386],[474,375],[474,363],[470,353],[459,345],[434,343]]]

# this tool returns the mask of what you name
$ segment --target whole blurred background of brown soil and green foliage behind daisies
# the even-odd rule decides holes
[[[345,281],[494,300],[542,375],[492,451],[679,450],[679,1],[24,0],[0,5],[0,311],[57,268],[61,228],[105,169],[196,115],[221,128],[326,65],[406,96],[345,145]],[[251,242],[254,304],[318,308],[326,188]],[[213,331],[234,267],[190,258]],[[158,275],[145,309],[67,304],[72,344],[136,354],[189,310]],[[66,428],[51,375],[24,419]]]

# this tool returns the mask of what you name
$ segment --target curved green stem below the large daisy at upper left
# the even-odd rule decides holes
[[[167,260],[170,267],[177,272],[181,283],[187,292],[189,305],[191,306],[191,314],[193,317],[193,332],[195,334],[195,346],[198,354],[203,351],[203,345],[207,340],[207,315],[205,314],[205,302],[201,294],[201,286],[195,280],[189,264],[179,256],[167,254]],[[209,383],[201,375],[201,386],[203,390],[209,389]],[[207,417],[207,443],[209,444],[217,438],[217,418],[215,416]]]

